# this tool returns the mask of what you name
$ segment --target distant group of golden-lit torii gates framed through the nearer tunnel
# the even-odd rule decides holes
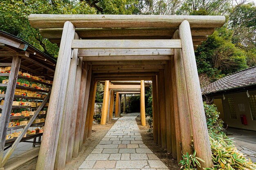
[[[125,83],[125,82],[124,82]],[[145,84],[144,80],[140,81],[140,85],[129,85],[129,84],[112,84],[109,80],[105,81],[102,113],[101,113],[101,124],[104,125],[106,122],[112,119],[112,113],[114,108],[114,99],[116,94],[116,107],[115,117],[120,117],[121,114],[121,94],[135,94],[140,93],[140,117],[141,125],[146,126],[146,114],[145,114]],[[123,93],[122,93],[123,92]],[[124,96],[124,110],[125,110],[125,96]]]

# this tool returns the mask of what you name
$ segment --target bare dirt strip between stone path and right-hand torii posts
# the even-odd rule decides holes
[[[180,168],[177,166],[177,160],[172,159],[171,154],[168,154],[166,149],[161,148],[154,143],[153,136],[148,135],[147,131],[149,129],[148,121],[146,121],[146,126],[141,126],[140,120],[137,120],[137,124],[139,126],[139,130],[141,132],[141,137],[144,144],[154,152],[157,157],[164,162],[164,164],[170,170],[179,170]]]

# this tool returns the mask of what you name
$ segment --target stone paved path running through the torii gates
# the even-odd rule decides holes
[[[119,118],[79,170],[168,170],[143,144],[137,116],[128,114]]]

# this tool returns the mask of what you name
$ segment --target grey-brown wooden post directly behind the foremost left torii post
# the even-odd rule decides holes
[[[75,34],[74,39],[79,39],[79,36]],[[67,143],[68,137],[70,133],[70,119],[73,116],[72,113],[72,103],[74,101],[74,88],[75,88],[75,79],[76,79],[76,67],[77,67],[77,57],[78,49],[73,50],[73,57],[70,62],[70,69],[68,72],[68,82],[67,82],[67,90],[65,95],[65,101],[63,105],[63,116],[61,121],[61,129],[58,139],[58,146],[56,151],[56,159],[55,159],[55,170],[63,170],[65,168],[66,163],[66,153],[67,153]]]

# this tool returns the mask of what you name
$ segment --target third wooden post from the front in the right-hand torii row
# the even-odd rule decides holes
[[[181,124],[180,124],[180,117],[179,117],[179,107],[177,100],[177,86],[176,86],[176,77],[175,77],[175,66],[174,66],[174,59],[171,58],[171,90],[172,90],[172,97],[171,97],[171,105],[172,111],[174,114],[174,121],[175,121],[175,141],[176,141],[176,153],[177,153],[177,163],[180,162],[182,159],[182,139],[181,139]],[[183,124],[183,123],[182,123]],[[183,124],[186,125],[186,124]],[[186,132],[184,132],[186,134]],[[183,135],[186,136],[186,135]]]

